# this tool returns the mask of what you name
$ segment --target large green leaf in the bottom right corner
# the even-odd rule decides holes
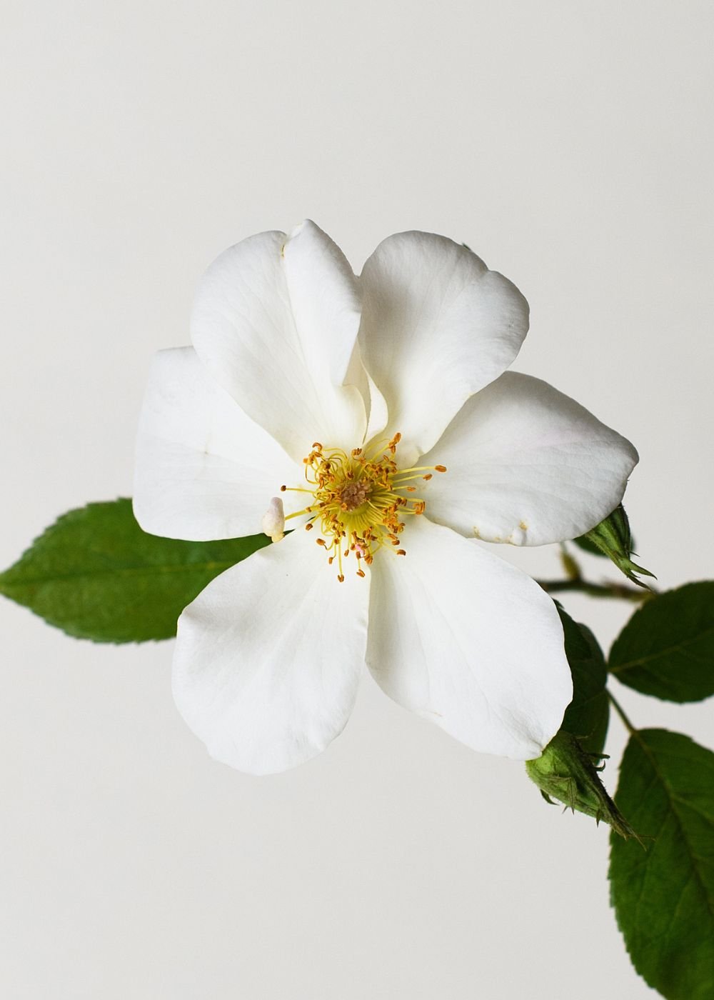
[[[647,850],[611,838],[610,883],[632,964],[668,1000],[714,996],[714,753],[664,729],[630,738],[615,796]]]

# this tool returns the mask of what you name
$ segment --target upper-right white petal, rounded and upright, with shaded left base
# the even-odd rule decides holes
[[[388,436],[401,432],[400,454],[411,461],[511,364],[528,303],[470,250],[431,233],[384,240],[361,282],[362,357],[387,399]]]

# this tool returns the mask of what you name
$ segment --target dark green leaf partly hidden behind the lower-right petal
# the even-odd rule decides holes
[[[590,629],[574,622],[560,605],[557,607],[565,635],[565,655],[573,675],[573,700],[566,709],[562,728],[578,737],[583,750],[600,754],[610,714],[605,658]]]

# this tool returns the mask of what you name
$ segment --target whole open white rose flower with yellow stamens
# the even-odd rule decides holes
[[[389,237],[359,278],[312,222],[208,269],[193,347],[154,362],[134,510],[156,535],[274,540],[179,619],[176,704],[217,760],[313,757],[365,663],[474,750],[530,759],[556,733],[572,686],[555,606],[478,539],[588,531],[637,453],[505,371],[527,329],[510,281],[429,233]]]

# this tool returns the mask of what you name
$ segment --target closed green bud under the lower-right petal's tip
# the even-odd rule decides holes
[[[598,771],[605,765],[596,767],[594,761],[599,759],[586,753],[574,736],[561,730],[540,757],[526,761],[526,773],[551,805],[557,799],[573,813],[577,809],[593,816],[596,823],[600,820],[609,823],[625,840],[629,837],[639,840],[600,781]]]

